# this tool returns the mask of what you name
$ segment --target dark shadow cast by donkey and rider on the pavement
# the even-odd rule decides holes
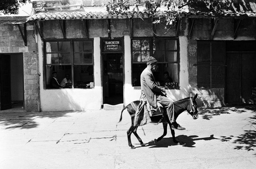
[[[154,143],[154,141],[150,141],[147,144],[143,145],[143,146],[151,146],[149,148],[159,148],[159,147],[168,147],[168,146],[176,146],[176,145],[182,145],[185,147],[195,147],[195,141],[198,140],[205,140],[205,141],[209,141],[209,140],[213,140],[213,139],[219,139],[219,138],[214,138],[213,135],[210,135],[209,137],[204,137],[204,138],[198,138],[198,135],[178,135],[176,137],[176,140],[179,141],[180,144],[176,144],[173,142],[172,137],[169,138],[163,138],[161,141]],[[141,146],[138,146],[141,147]],[[136,148],[138,148],[136,147]]]

